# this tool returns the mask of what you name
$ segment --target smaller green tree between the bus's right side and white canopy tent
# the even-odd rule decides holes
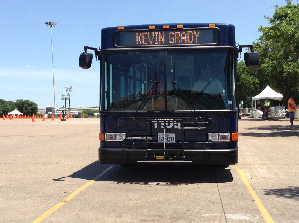
[[[245,101],[251,102],[251,97],[255,95],[259,83],[254,75],[255,70],[255,68],[246,67],[243,61],[237,63],[238,102],[243,102],[244,109],[246,108]]]

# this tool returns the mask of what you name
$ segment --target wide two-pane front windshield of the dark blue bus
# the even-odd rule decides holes
[[[235,110],[233,69],[228,48],[106,51],[101,110]]]

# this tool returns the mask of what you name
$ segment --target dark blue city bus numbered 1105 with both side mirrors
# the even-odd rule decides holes
[[[100,62],[100,163],[237,164],[242,47],[259,64],[238,47],[229,24],[103,28],[79,60],[89,68],[94,50]]]

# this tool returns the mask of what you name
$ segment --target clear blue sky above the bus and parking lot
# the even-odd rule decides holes
[[[258,27],[268,26],[273,6],[285,0],[0,0],[0,99],[30,100],[39,109],[54,106],[52,28],[56,107],[73,86],[71,107],[99,106],[99,65],[78,66],[83,46],[98,48],[100,30],[110,26],[168,23],[230,23],[236,41],[252,44]],[[295,3],[294,3],[295,4]]]

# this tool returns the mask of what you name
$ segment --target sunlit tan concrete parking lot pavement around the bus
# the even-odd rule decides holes
[[[242,117],[226,169],[123,167],[98,163],[97,118],[1,119],[0,222],[299,222],[294,126]]]

